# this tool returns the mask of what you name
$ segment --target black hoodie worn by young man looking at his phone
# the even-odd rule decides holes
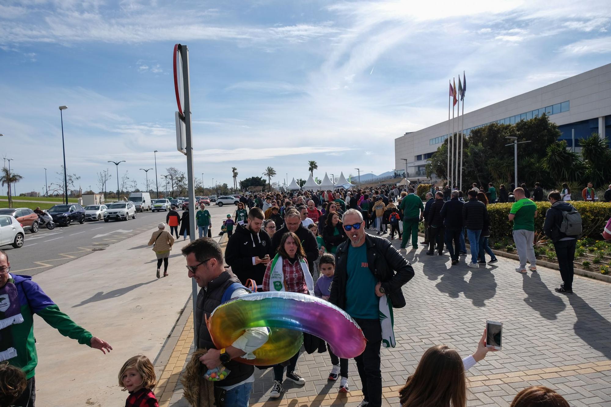
[[[235,232],[227,242],[225,262],[232,268],[233,274],[238,276],[242,284],[246,284],[247,279],[254,280],[257,285],[263,284],[266,265],[263,263],[253,265],[252,258],[263,259],[266,254],[274,257],[275,251],[263,227],[258,233],[254,233],[246,229],[245,225],[238,223]]]

